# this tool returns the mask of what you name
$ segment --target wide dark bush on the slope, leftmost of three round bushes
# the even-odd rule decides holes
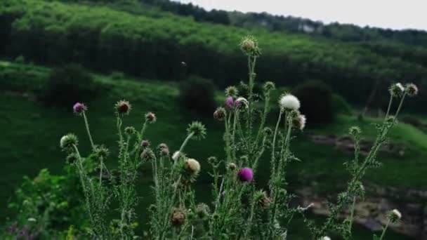
[[[48,76],[41,100],[47,105],[70,107],[74,102],[88,102],[96,95],[91,74],[79,65],[66,65]]]

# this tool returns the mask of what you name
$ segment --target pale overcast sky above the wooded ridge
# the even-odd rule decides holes
[[[427,30],[427,0],[174,0],[206,10],[268,12],[322,22]]]

